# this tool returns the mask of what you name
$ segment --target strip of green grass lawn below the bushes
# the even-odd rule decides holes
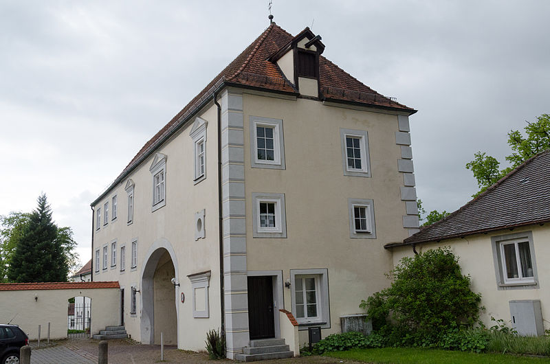
[[[351,361],[365,361],[367,363],[550,363],[550,358],[534,358],[531,356],[510,354],[475,354],[471,352],[417,348],[353,349],[347,352],[329,352],[324,355]]]

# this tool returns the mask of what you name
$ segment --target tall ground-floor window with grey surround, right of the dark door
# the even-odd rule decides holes
[[[300,325],[330,327],[327,269],[291,269],[292,312]]]

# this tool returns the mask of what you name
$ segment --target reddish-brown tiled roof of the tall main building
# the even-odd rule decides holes
[[[303,32],[309,30],[305,28]],[[300,34],[303,34],[300,32]],[[223,87],[243,87],[260,91],[285,93],[299,97],[292,83],[285,78],[275,62],[268,60],[279,49],[293,40],[283,28],[272,23],[252,44],[237,56],[223,71],[206,85],[179,113],[173,117],[157,134],[155,134],[133,157],[122,173],[113,181],[107,190],[91,205],[95,205],[111,188],[122,181],[139,163],[162,144],[170,135],[210,101],[215,91]],[[321,100],[349,102],[375,108],[401,111],[408,114],[416,110],[399,104],[391,98],[377,93],[349,73],[343,71],[324,56],[319,57],[319,89]]]

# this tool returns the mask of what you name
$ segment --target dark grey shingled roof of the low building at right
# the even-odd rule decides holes
[[[550,150],[539,153],[443,220],[386,248],[550,221]]]

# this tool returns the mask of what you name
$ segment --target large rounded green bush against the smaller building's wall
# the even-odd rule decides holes
[[[470,290],[450,248],[403,258],[388,277],[391,286],[360,307],[391,345],[437,346],[441,334],[472,328],[478,319],[481,295]]]

